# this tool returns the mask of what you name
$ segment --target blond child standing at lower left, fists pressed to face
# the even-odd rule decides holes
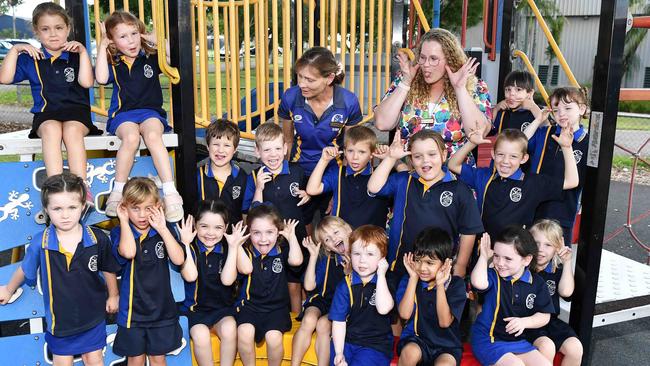
[[[165,365],[165,354],[181,346],[183,336],[169,283],[169,261],[186,260],[175,231],[165,223],[156,184],[131,178],[117,207],[119,226],[111,230],[113,254],[123,266],[120,311],[113,352],[129,365]]]

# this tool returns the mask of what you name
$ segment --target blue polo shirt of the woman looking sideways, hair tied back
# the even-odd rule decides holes
[[[323,148],[343,146],[343,128],[361,122],[363,115],[354,93],[334,85],[332,105],[318,118],[302,96],[300,87],[289,88],[280,101],[278,116],[292,120],[296,129],[295,154],[292,161],[300,163],[307,176],[316,167]],[[335,165],[334,161],[331,165]]]

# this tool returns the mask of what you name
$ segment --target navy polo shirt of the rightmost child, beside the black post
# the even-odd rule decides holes
[[[531,173],[545,174],[564,179],[564,156],[562,148],[551,137],[551,134],[560,135],[561,128],[540,127],[528,141],[528,152],[531,156]],[[573,133],[573,157],[578,167],[578,186],[567,189],[558,201],[549,201],[537,209],[537,218],[552,218],[558,220],[563,227],[572,227],[575,221],[580,195],[585,184],[587,171],[587,149],[589,148],[589,134],[587,129],[580,129]]]

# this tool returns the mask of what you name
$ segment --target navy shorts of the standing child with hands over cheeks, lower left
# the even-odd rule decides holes
[[[156,328],[117,327],[113,353],[123,357],[162,356],[182,345],[183,330],[175,322]]]

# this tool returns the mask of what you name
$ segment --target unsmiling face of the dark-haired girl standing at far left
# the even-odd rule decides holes
[[[48,196],[45,212],[57,230],[69,231],[79,225],[83,208],[83,200],[78,192],[59,192]]]

